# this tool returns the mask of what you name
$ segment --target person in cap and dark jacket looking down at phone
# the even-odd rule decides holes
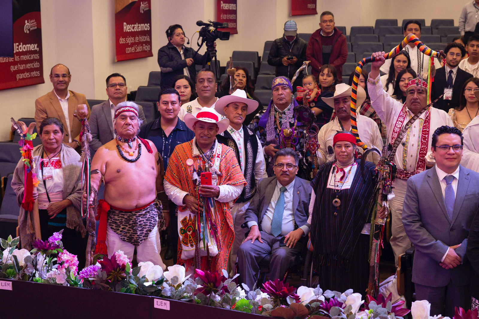
[[[268,64],[276,67],[276,77],[292,79],[298,68],[306,60],[306,47],[308,44],[297,36],[296,22],[288,20],[285,23],[285,33],[282,38],[276,39],[271,46]],[[293,93],[297,86],[303,86],[303,71],[293,84]]]

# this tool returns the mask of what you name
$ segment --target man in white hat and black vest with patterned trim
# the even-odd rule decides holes
[[[217,139],[235,151],[236,159],[246,179],[246,186],[231,208],[235,229],[235,241],[230,253],[231,269],[235,267],[239,245],[248,231],[247,228],[241,228],[246,209],[256,193],[259,180],[268,176],[261,142],[254,132],[243,124],[246,114],[254,112],[257,107],[258,102],[248,99],[243,90],[236,90],[231,95],[223,96],[215,104],[215,110],[229,120],[228,128],[218,134]]]

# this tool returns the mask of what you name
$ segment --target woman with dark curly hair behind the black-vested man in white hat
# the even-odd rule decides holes
[[[235,79],[236,82],[236,87],[235,90],[244,90],[246,91],[246,96],[250,100],[255,100],[258,102],[258,108],[253,112],[248,115],[246,115],[245,120],[243,122],[244,125],[248,126],[253,118],[256,116],[256,114],[260,113],[263,109],[263,105],[261,104],[261,101],[254,96],[254,85],[251,82],[250,78],[250,73],[248,72],[247,68],[243,67],[235,67],[236,73],[234,74],[233,78]],[[223,97],[225,95],[229,95],[229,89],[230,89],[230,80],[229,76],[226,77],[226,79],[223,81],[221,84],[220,91],[217,93],[217,97]],[[233,93],[233,92],[231,92]]]

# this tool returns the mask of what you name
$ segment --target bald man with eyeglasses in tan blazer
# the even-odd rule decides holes
[[[57,64],[50,70],[50,81],[53,90],[35,100],[36,130],[47,117],[56,117],[63,124],[65,136],[63,143],[72,148],[80,146],[81,122],[73,117],[79,104],[86,104],[87,119],[90,118],[90,106],[85,94],[68,90],[71,81],[70,70],[63,64]]]

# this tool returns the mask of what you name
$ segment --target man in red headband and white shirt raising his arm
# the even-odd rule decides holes
[[[379,79],[379,68],[384,65],[384,51],[373,53],[373,57],[380,57],[371,65],[367,90],[371,98],[371,106],[376,110],[377,115],[386,124],[388,132],[388,143],[391,145],[399,136],[401,128],[411,117],[421,111],[427,105],[427,83],[420,79],[413,79],[406,87],[406,103],[391,98],[388,92],[384,91]],[[423,112],[411,127],[402,142],[399,144],[394,163],[397,167],[396,179],[392,186],[394,198],[389,202],[392,214],[392,238],[390,243],[398,266],[398,257],[411,247],[404,226],[402,224],[402,203],[406,194],[408,179],[426,170],[426,159],[430,166],[434,165],[431,157],[431,141],[434,130],[442,125],[454,126],[451,118],[443,110],[433,107]]]

